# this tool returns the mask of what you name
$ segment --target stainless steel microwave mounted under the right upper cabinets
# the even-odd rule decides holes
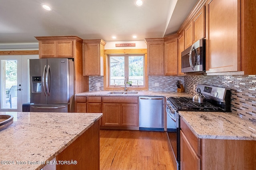
[[[181,72],[205,71],[205,39],[198,40],[181,53]]]

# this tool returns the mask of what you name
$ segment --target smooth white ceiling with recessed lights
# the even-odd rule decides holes
[[[135,0],[0,0],[0,43],[38,42],[35,36],[162,38],[177,32],[197,1],[144,0],[137,7]]]

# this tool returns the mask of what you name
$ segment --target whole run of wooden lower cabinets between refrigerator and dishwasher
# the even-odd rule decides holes
[[[102,128],[139,129],[138,97],[75,96],[77,113],[103,113]]]

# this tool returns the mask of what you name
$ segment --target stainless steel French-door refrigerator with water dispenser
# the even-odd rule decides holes
[[[74,61],[30,59],[30,112],[74,111]]]

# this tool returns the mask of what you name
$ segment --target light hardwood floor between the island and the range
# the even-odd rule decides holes
[[[101,170],[174,170],[166,132],[100,130]]]

